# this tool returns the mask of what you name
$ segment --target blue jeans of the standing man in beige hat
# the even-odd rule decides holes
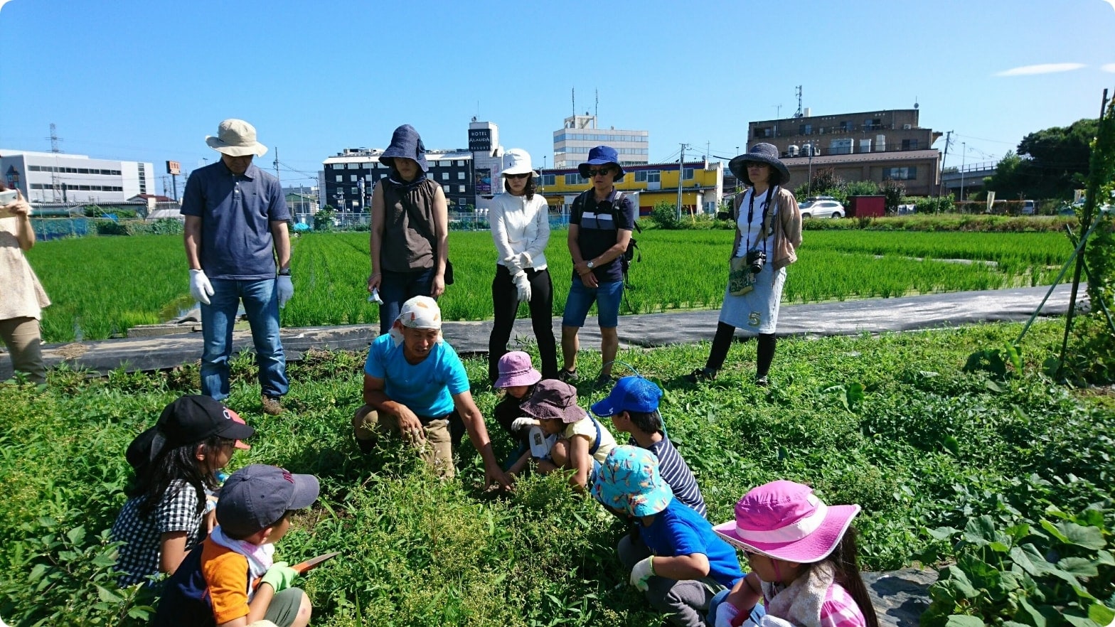
[[[244,312],[252,328],[255,359],[260,367],[260,389],[265,396],[287,394],[287,356],[279,341],[279,299],[274,279],[211,279],[213,296],[202,305],[202,394],[221,401],[229,396],[229,357],[232,355],[232,327],[236,307],[244,301]]]

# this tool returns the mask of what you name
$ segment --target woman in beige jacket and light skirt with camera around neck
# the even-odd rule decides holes
[[[736,196],[733,211],[736,241],[731,254],[733,266],[744,268],[750,287],[728,286],[708,361],[704,368],[694,370],[689,379],[696,383],[715,378],[739,329],[744,336],[758,337],[755,383],[766,386],[777,344],[775,328],[786,267],[797,261],[796,249],[802,245],[802,212],[794,194],[783,189],[789,180],[789,170],[778,160],[778,148],[774,145],[756,144],[731,160],[728,167],[752,185]]]

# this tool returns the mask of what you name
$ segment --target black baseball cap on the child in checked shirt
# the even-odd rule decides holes
[[[132,441],[125,456],[132,467],[138,470],[163,451],[201,443],[214,435],[227,440],[255,435],[254,428],[237,422],[234,416],[234,412],[209,396],[182,396],[163,408],[155,426]]]

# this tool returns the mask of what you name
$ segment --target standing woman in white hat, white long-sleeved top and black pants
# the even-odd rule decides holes
[[[550,209],[545,199],[534,193],[537,173],[531,167],[526,151],[512,148],[504,153],[503,177],[506,191],[492,200],[488,212],[497,253],[492,279],[495,322],[488,337],[488,379],[494,382],[500,377],[500,357],[507,353],[522,301],[530,303],[542,377],[554,378],[558,344],[552,320],[553,282],[546,271],[545,255],[550,243]]]

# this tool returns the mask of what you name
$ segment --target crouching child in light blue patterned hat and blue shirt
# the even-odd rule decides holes
[[[592,494],[604,507],[634,517],[646,547],[620,540],[617,550],[630,582],[673,625],[705,626],[709,602],[744,573],[736,552],[692,508],[673,498],[653,453],[617,446],[608,454]]]

